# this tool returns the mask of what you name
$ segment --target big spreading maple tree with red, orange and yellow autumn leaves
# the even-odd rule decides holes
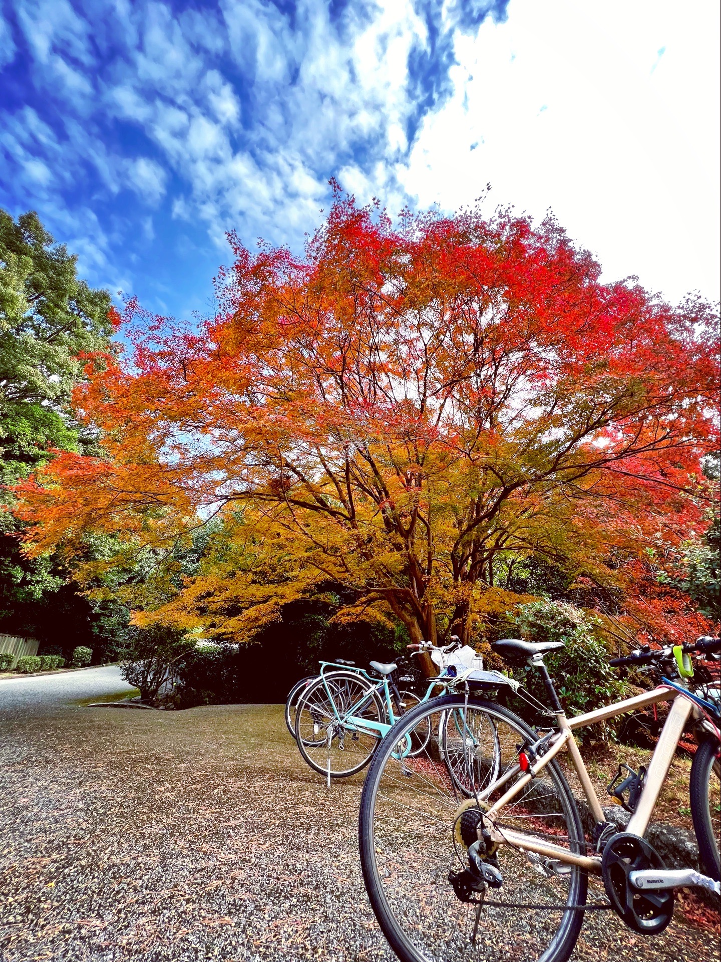
[[[220,516],[200,573],[145,618],[221,637],[333,583],[355,599],[341,617],[468,640],[498,566],[532,555],[630,631],[673,633],[638,569],[708,524],[709,305],[602,283],[552,219],[394,223],[339,191],[303,256],[231,243],[215,316],[131,302],[127,359],[88,357],[76,417],[106,456],[59,453],[24,486],[34,550],[82,557],[106,533],[160,557]]]

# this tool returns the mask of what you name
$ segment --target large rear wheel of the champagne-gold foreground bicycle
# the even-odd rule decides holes
[[[450,712],[462,713],[461,723],[471,730],[485,731],[476,747],[479,758],[501,747],[503,785],[490,780],[494,766],[485,759],[474,770],[479,774],[474,797],[460,792],[438,744],[441,715]],[[399,759],[398,748],[421,719],[433,733],[429,746],[416,758]],[[493,844],[485,861],[497,866],[500,887],[479,891],[483,886],[473,876],[477,889],[470,898],[477,901],[461,900],[460,882],[471,874],[468,847],[478,840],[479,826],[487,827],[483,813],[520,777],[516,746],[529,737],[535,739],[532,729],[499,705],[470,698],[466,708],[463,696],[451,695],[410,711],[376,751],[360,799],[360,860],[373,911],[402,962],[565,962],[571,954],[584,911],[569,906],[585,904],[588,884],[581,868]],[[530,832],[584,854],[578,809],[555,761],[491,826],[501,835]]]

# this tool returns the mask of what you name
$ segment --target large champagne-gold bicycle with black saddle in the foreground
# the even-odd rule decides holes
[[[528,661],[540,672],[555,720],[548,730],[479,696],[492,686],[468,672],[462,692],[412,709],[375,752],[360,800],[361,867],[376,918],[402,962],[565,962],[585,911],[613,909],[634,931],[653,935],[671,920],[675,888],[701,886],[718,895],[721,713],[714,699],[721,693],[707,686],[699,694],[688,683],[690,655],[716,659],[721,640],[616,659],[611,664],[652,667],[659,685],[572,718],[543,661],[560,646],[517,639],[493,646],[506,660]],[[675,678],[668,677],[672,670]],[[606,819],[574,732],[661,701],[670,708],[648,768],[620,772],[609,785],[631,813],[619,831]],[[455,713],[463,733],[473,735],[463,740],[470,797],[451,778],[436,738],[418,757],[400,750],[418,724],[437,732],[444,712]],[[689,721],[699,746],[690,776],[692,821],[708,874],[666,869],[644,838]],[[587,800],[593,823],[587,836],[560,752]]]

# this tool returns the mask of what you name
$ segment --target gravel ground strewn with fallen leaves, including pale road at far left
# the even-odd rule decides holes
[[[0,680],[4,962],[392,960],[360,878],[361,776],[328,792],[281,706],[72,703],[125,688],[112,667]],[[575,959],[719,957],[680,917],[649,941],[595,916]]]

